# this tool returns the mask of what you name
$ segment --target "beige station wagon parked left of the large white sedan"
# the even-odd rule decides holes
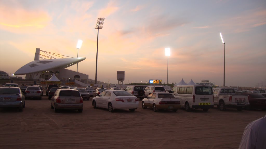
[[[51,108],[58,112],[58,109],[73,109],[83,111],[83,99],[78,90],[57,89],[51,98]]]

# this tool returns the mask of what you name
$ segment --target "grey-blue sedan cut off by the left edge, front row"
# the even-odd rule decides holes
[[[0,87],[0,108],[25,108],[25,96],[19,87]]]

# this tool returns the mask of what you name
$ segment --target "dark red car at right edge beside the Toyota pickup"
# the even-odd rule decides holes
[[[246,109],[262,109],[266,110],[266,97],[257,93],[239,93],[238,95],[248,95],[250,106]]]

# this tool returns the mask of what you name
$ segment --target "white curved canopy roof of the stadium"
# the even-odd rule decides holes
[[[53,68],[67,68],[86,58],[61,58],[61,59],[46,59],[34,60],[21,68],[19,68],[14,75],[26,75],[29,73],[47,71]]]

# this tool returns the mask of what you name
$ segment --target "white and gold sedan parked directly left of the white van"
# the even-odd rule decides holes
[[[153,108],[154,112],[160,109],[168,109],[176,112],[180,109],[180,100],[175,98],[171,93],[151,93],[147,98],[142,100],[142,108]]]

